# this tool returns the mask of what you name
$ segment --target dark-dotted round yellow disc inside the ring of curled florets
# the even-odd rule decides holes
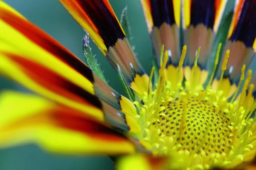
[[[186,106],[185,111],[183,109]],[[205,100],[175,99],[159,113],[160,136],[174,139],[174,145],[190,153],[223,153],[229,146],[231,130],[226,113]],[[185,114],[183,114],[185,113]],[[165,114],[165,116],[163,115]],[[184,117],[183,117],[184,116]]]

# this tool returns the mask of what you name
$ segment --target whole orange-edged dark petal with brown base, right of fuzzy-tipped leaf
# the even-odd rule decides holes
[[[117,71],[120,66],[128,82],[135,73],[144,74],[108,0],[59,0]]]

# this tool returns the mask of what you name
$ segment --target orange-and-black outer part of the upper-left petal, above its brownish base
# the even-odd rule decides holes
[[[104,55],[106,55],[105,51],[108,51],[109,46],[115,45],[117,39],[123,39],[125,37],[125,33],[108,0],[59,1],[81,27],[88,31],[90,37]],[[109,28],[108,25],[112,25],[115,31],[111,30],[112,28]],[[104,34],[105,32],[111,34]]]

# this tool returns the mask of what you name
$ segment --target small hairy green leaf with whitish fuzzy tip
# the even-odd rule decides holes
[[[97,59],[93,55],[90,45],[89,45],[89,34],[86,33],[83,37],[83,51],[84,51],[84,57],[86,60],[86,63],[88,67],[95,73],[97,76],[99,76],[104,82],[107,82],[105,79],[105,76],[99,67],[99,64],[97,63]]]

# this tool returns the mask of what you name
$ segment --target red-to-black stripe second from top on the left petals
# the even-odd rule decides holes
[[[43,65],[23,57],[12,54],[7,55],[13,61],[17,62],[19,65],[22,65],[25,74],[34,79],[35,82],[38,82],[40,85],[43,85],[44,87],[64,97],[70,97],[71,100],[78,100],[76,102],[79,102],[82,99],[83,102],[88,104],[91,103],[97,108],[102,108],[102,104],[96,96],[88,93],[72,82],[67,81],[55,72],[45,68]]]

